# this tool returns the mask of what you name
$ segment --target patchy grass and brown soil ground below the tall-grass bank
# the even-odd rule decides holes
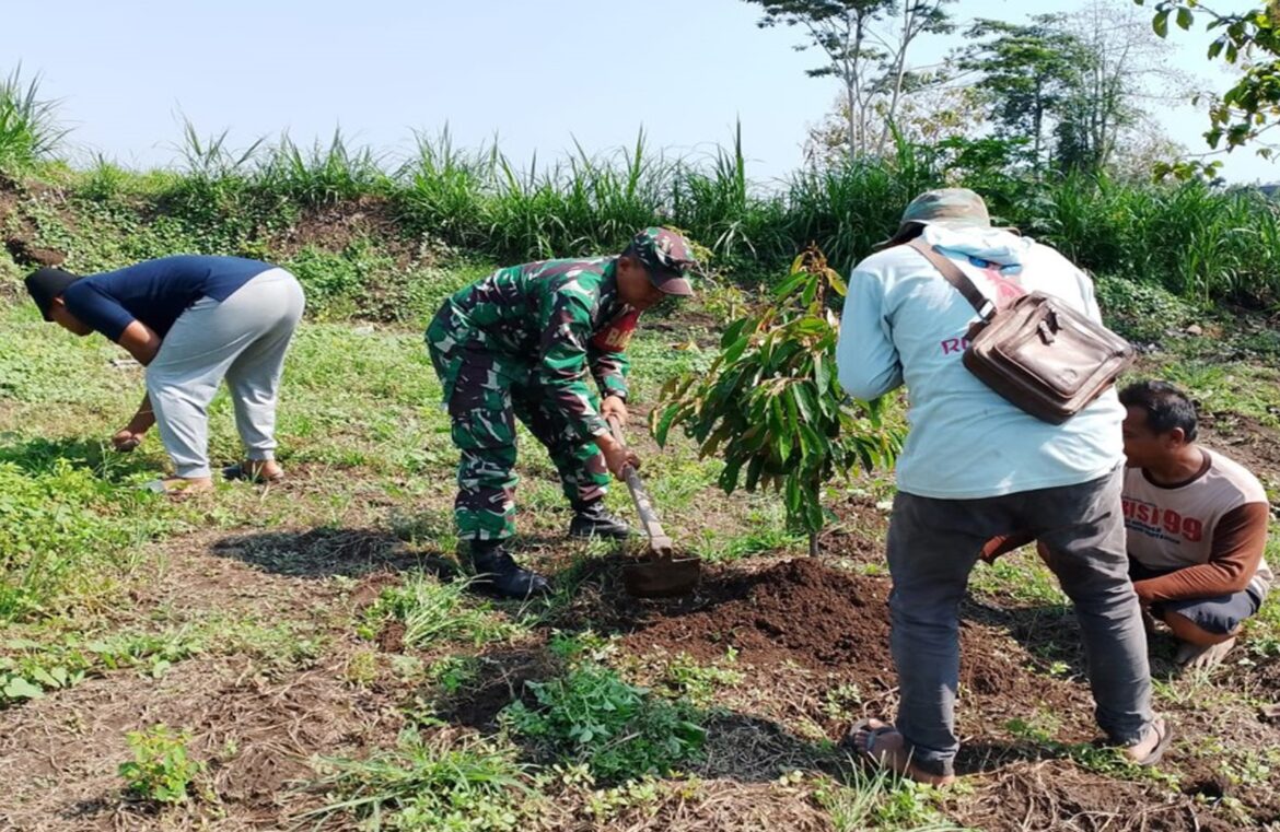
[[[1270,321],[1188,334],[1129,302],[1158,342],[1143,370],[1190,388],[1208,440],[1280,488]],[[713,343],[654,324],[635,346],[640,410]],[[890,476],[832,488],[841,522],[813,563],[776,498],[726,498],[717,462],[684,442],[659,452],[634,425],[669,531],[710,562],[696,598],[641,603],[621,593],[614,552],[563,538],[550,463],[522,434],[520,548],[558,591],[494,603],[453,559],[454,454],[417,328],[306,323],[280,408],[289,483],[180,503],[136,488],[164,467],[155,436],[108,449],[141,388],[123,352],[22,303],[0,306],[0,333],[3,828],[1280,823],[1280,730],[1262,712],[1280,686],[1274,600],[1211,673],[1172,675],[1153,639],[1178,737],[1166,764],[1138,771],[1089,745],[1051,577],[1025,553],[979,568],[963,632],[969,776],[938,792],[837,745],[895,704]],[[212,425],[215,460],[234,460],[224,397]],[[625,493],[609,499],[630,513]]]

